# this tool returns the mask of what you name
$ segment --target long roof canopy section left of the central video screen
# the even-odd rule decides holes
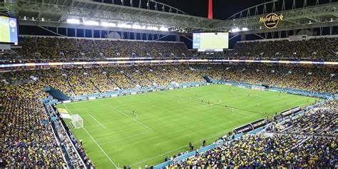
[[[78,27],[68,24],[67,19],[79,19],[81,23],[96,21],[99,25],[104,22],[138,24],[165,27],[168,31],[182,32],[187,29],[210,29],[212,24],[223,22],[217,19],[190,16],[179,9],[153,1],[150,1],[151,8],[149,9],[135,7],[135,5],[131,7],[89,0],[18,0],[15,3],[4,3],[4,6],[13,12],[17,11],[16,15],[21,25],[30,26]]]

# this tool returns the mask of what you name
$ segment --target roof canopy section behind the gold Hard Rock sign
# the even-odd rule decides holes
[[[243,31],[244,34],[255,34],[269,31],[338,26],[338,2],[282,11],[275,11],[273,6],[272,11],[268,11],[265,4],[262,6],[252,6],[249,9],[240,11],[230,16],[224,23],[217,23],[212,25],[212,27],[226,31],[234,28],[238,28],[239,30],[246,28],[247,31]],[[271,13],[282,14],[284,19],[275,29],[266,29],[260,23],[260,18],[264,18],[267,14]]]

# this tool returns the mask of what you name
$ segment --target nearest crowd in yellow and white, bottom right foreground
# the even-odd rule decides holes
[[[332,114],[337,114],[337,101],[324,105]],[[322,126],[332,126],[327,114],[299,116],[307,121],[309,116],[322,121]],[[332,116],[331,116],[332,117]],[[334,119],[334,121],[337,121]],[[298,122],[298,121],[297,121]],[[303,121],[299,121],[303,123]],[[335,123],[337,125],[337,123]],[[296,130],[307,130],[308,126],[297,126]],[[235,140],[224,139],[223,145],[197,153],[183,162],[174,159],[168,168],[334,168],[337,167],[337,135],[317,136],[313,133],[297,135],[295,128],[284,130],[287,134],[260,133],[243,135]],[[217,142],[219,143],[219,142]],[[197,151],[198,152],[198,151]]]

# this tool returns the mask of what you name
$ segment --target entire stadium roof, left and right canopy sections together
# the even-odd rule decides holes
[[[9,9],[19,18],[19,24],[28,26],[104,29],[121,31],[142,29],[162,34],[190,33],[195,31],[242,31],[256,34],[268,31],[285,31],[338,25],[338,2],[316,4],[304,8],[284,9],[277,12],[275,1],[252,6],[227,20],[191,16],[160,2],[139,0],[121,1],[123,4],[106,4],[91,0],[6,0],[0,8]],[[271,7],[268,4],[273,4]],[[260,17],[274,12],[283,14],[284,21],[276,29],[265,29]],[[69,22],[68,19],[73,19]],[[75,23],[75,24],[74,24]]]

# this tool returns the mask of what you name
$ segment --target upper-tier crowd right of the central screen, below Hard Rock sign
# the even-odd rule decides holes
[[[230,56],[258,58],[334,58],[338,56],[337,38],[307,41],[251,41],[236,43]]]

